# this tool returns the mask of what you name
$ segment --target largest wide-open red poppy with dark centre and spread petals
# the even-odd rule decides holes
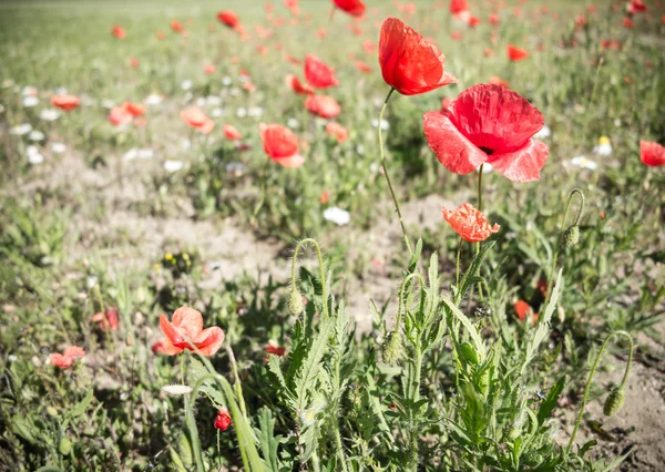
[[[513,182],[538,181],[550,153],[531,138],[543,127],[543,115],[505,86],[473,85],[449,110],[426,113],[423,124],[437,158],[456,174],[488,162]]]

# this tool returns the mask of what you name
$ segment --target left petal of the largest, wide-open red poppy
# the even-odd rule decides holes
[[[422,120],[424,136],[441,164],[456,174],[469,174],[488,160],[450,119],[439,112],[428,112]]]

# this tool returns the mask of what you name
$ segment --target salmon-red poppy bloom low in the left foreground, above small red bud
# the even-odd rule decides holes
[[[185,349],[192,350],[190,342],[204,356],[212,356],[224,342],[224,331],[214,326],[203,329],[203,316],[200,311],[190,307],[181,307],[173,314],[173,320],[168,321],[165,315],[160,317],[160,328],[165,338],[163,339],[164,352],[175,356]]]

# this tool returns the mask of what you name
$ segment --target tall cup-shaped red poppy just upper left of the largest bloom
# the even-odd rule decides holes
[[[443,71],[446,57],[401,20],[389,18],[381,27],[379,63],[383,80],[402,95],[429,92],[456,81]]]

